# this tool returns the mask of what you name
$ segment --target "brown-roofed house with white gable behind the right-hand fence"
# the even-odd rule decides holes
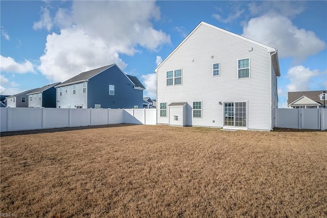
[[[287,104],[290,108],[319,108],[323,107],[323,90],[289,92]],[[327,100],[327,94],[325,95]],[[325,105],[327,101],[325,100]]]

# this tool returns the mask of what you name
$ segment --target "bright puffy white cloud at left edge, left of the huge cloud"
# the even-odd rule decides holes
[[[18,63],[12,57],[1,57],[1,66],[0,70],[3,72],[11,72],[11,73],[29,73],[34,72],[33,64],[29,60],[25,60],[25,62]]]

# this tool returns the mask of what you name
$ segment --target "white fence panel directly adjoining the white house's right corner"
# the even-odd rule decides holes
[[[277,108],[276,109],[276,127],[281,128],[300,128],[299,109],[296,108]]]

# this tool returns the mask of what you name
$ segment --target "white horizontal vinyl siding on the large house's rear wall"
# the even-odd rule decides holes
[[[251,79],[239,79],[238,60],[246,58],[250,60]],[[247,128],[269,130],[269,58],[267,48],[202,24],[157,69],[156,100],[187,102],[187,125],[211,127],[224,126],[220,101],[247,101]],[[219,76],[213,76],[214,63],[220,63]],[[166,73],[172,69],[182,69],[183,85],[167,86]],[[193,118],[192,111],[193,101],[199,99],[205,105],[201,119]],[[160,110],[157,113],[157,123],[169,124],[160,117]]]

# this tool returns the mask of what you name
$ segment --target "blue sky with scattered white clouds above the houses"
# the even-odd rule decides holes
[[[278,49],[278,107],[327,90],[327,1],[0,1],[0,91],[117,63],[155,98],[154,69],[200,21]]]

